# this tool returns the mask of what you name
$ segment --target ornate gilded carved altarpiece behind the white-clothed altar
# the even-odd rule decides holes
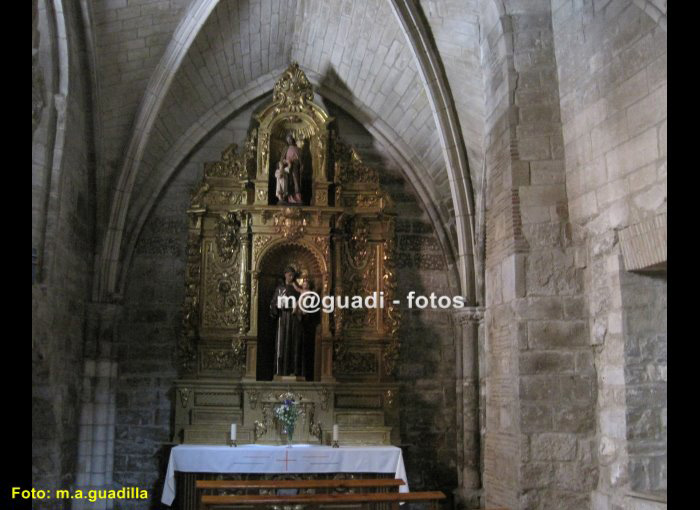
[[[304,204],[277,204],[274,170],[291,133],[304,157]],[[273,409],[291,393],[295,440],[398,442],[394,371],[399,352],[394,213],[375,169],[338,137],[296,64],[277,81],[244,146],[204,168],[189,217],[176,442],[281,441]],[[385,306],[316,314],[306,331],[313,378],[272,380],[270,301],[293,265],[320,296],[383,293]],[[380,295],[380,294],[378,294]]]

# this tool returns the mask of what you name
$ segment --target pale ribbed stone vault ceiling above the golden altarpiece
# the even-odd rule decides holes
[[[477,2],[402,4],[96,3],[99,185],[110,211],[99,226],[103,289],[118,290],[123,274],[117,266],[128,259],[161,190],[191,150],[236,110],[269,93],[291,61],[405,169],[442,232],[448,260],[469,251],[471,240],[463,234],[469,228],[457,225],[466,221],[461,216],[471,209],[472,180],[480,175],[470,178],[469,169],[481,168],[483,160]],[[403,19],[410,9],[417,9],[416,19]],[[425,41],[413,35],[412,28],[421,26]],[[437,58],[426,61],[426,45]],[[440,80],[445,97],[436,98],[434,82]],[[451,108],[453,120],[444,113]],[[445,136],[449,122],[452,139]],[[459,182],[466,191],[456,190]]]

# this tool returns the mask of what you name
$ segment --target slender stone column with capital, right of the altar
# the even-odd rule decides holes
[[[459,497],[465,508],[480,508],[479,326],[484,309],[469,306],[455,312],[457,328],[457,434]]]

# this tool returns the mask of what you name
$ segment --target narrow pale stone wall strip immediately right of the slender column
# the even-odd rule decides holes
[[[501,265],[497,256],[507,244],[513,246],[513,200],[508,118],[509,73],[507,34],[495,4],[482,2],[481,53],[485,69],[484,158],[487,167],[483,186],[486,204],[486,268],[484,338],[479,366],[482,416],[482,485],[486,505],[515,508],[518,498],[519,427],[516,422],[517,365],[514,349],[517,328],[509,328],[509,304],[503,301]],[[518,226],[519,228],[519,226]],[[512,287],[512,283],[510,286]],[[509,289],[512,293],[514,289]]]

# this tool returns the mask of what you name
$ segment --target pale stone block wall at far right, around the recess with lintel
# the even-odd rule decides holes
[[[642,277],[625,272],[617,234],[666,212],[665,23],[657,24],[639,3],[644,2],[552,2],[566,191],[576,258],[585,266],[589,343],[596,349],[596,509],[623,505],[631,487],[665,486],[665,458],[658,455],[665,451],[665,383],[660,378],[665,372],[665,328],[655,330],[656,340],[651,345],[645,340],[639,350],[641,333],[630,322],[639,315],[640,302],[651,305],[665,299],[665,287],[638,285],[636,295],[623,290],[624,282]],[[644,376],[644,384],[661,402],[653,419],[635,407],[643,400],[637,386],[643,376],[640,363],[651,374]],[[626,388],[626,383],[635,388]],[[653,430],[640,432],[647,419],[656,420]],[[653,437],[655,446],[647,453],[635,450],[633,460],[632,442],[640,433],[648,440]]]

